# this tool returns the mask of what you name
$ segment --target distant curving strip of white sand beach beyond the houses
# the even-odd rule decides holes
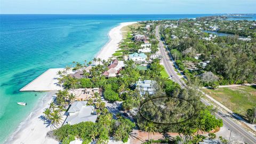
[[[133,23],[137,22],[122,22],[119,26],[111,29],[108,34],[110,41],[105,46],[103,46],[101,51],[97,54],[97,58],[108,60],[108,58],[110,58],[112,54],[118,50],[119,42],[121,42],[123,39],[121,28],[124,26],[132,25]]]

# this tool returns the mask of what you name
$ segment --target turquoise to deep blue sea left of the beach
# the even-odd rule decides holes
[[[30,116],[44,92],[19,92],[49,68],[92,60],[120,22],[196,18],[171,15],[0,15],[0,143]],[[25,101],[26,107],[17,105]]]

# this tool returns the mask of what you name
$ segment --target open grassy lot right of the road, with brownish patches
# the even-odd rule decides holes
[[[216,90],[202,89],[202,91],[244,117],[246,110],[256,105],[256,86],[222,87]]]

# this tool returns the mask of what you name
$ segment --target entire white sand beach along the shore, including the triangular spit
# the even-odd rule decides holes
[[[124,22],[113,28],[109,32],[110,41],[98,53],[97,58],[107,60],[118,49],[118,43],[122,41],[121,28],[136,22]],[[57,71],[61,69],[50,69],[36,78],[34,81],[25,86],[23,91],[55,91],[61,87],[55,85],[57,83]],[[49,78],[50,77],[50,78]],[[46,79],[46,80],[45,80]],[[45,108],[49,107],[52,96],[55,92],[48,92],[45,97],[38,103],[37,107],[31,115],[20,124],[19,128],[5,141],[5,143],[58,143],[53,139],[47,138],[47,132],[51,131],[51,127],[44,124],[40,118]],[[66,118],[66,116],[63,116]],[[111,141],[110,141],[111,143]]]

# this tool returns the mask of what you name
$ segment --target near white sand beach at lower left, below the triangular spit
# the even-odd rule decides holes
[[[58,143],[45,136],[50,127],[46,127],[43,120],[39,118],[43,115],[45,108],[49,107],[55,91],[47,92],[38,100],[38,105],[31,111],[29,116],[22,121],[17,129],[4,141],[4,143]]]

